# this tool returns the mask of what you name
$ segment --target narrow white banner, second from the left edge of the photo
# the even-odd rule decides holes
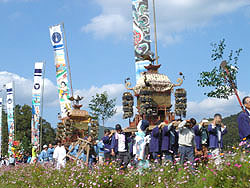
[[[13,154],[12,147],[14,142],[15,122],[14,122],[14,84],[13,82],[6,84],[6,106],[7,106],[7,121],[9,132],[8,153]]]

